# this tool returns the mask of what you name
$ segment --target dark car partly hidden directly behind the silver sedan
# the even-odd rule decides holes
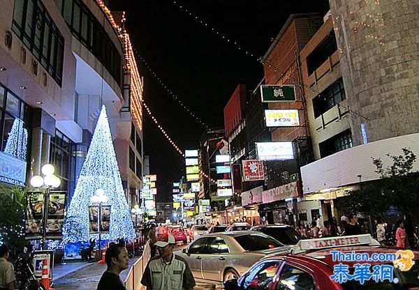
[[[251,227],[251,231],[261,231],[284,245],[295,245],[301,240],[300,234],[286,224],[265,224]]]

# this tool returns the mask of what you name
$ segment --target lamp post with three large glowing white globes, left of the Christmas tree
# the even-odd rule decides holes
[[[31,178],[31,186],[33,188],[43,188],[45,185],[44,195],[44,206],[43,206],[43,229],[42,229],[42,250],[46,250],[47,247],[47,220],[48,220],[48,209],[50,204],[50,188],[58,188],[61,184],[61,179],[54,175],[55,167],[52,164],[43,165],[42,169],[43,176],[35,175]]]

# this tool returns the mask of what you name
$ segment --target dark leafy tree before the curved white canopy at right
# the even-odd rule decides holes
[[[337,208],[345,214],[364,213],[384,220],[390,210],[419,217],[419,174],[412,171],[416,155],[408,148],[402,151],[402,155],[387,154],[392,165],[385,168],[381,158],[372,158],[381,178],[338,199]]]

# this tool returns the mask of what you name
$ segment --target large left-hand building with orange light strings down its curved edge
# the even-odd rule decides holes
[[[0,162],[10,169],[0,174],[1,181],[26,185],[51,162],[61,178],[59,190],[71,199],[105,105],[127,194],[140,188],[141,178],[133,182],[124,176],[129,162],[122,146],[130,144],[135,168],[142,168],[142,116],[131,105],[142,100],[142,82],[130,66],[133,54],[126,33],[105,4],[6,0],[2,6]],[[131,123],[134,137],[129,135]]]

